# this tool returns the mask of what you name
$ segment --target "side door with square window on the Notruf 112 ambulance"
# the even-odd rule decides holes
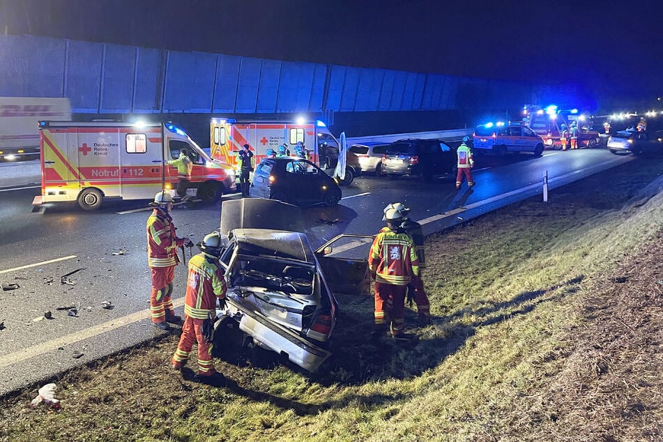
[[[117,137],[122,199],[152,199],[163,188],[161,128],[121,128]]]

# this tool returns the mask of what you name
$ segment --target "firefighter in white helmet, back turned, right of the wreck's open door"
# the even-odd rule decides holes
[[[368,256],[371,277],[375,280],[373,337],[379,337],[386,324],[394,339],[411,339],[404,333],[405,295],[413,276],[419,275],[419,261],[412,236],[401,227],[403,215],[395,208],[382,218],[387,229],[375,236]]]

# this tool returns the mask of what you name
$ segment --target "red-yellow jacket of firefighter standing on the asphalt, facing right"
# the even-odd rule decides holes
[[[147,219],[147,264],[151,268],[172,267],[178,263],[177,247],[184,245],[184,238],[177,238],[173,218],[155,208]]]

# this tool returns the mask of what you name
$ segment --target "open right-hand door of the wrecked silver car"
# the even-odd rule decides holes
[[[373,236],[342,234],[316,250],[316,258],[335,294],[370,293],[368,254]]]

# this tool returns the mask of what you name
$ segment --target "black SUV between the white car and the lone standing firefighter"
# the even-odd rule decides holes
[[[455,176],[456,149],[439,139],[402,139],[393,142],[382,158],[382,173],[397,176]]]

